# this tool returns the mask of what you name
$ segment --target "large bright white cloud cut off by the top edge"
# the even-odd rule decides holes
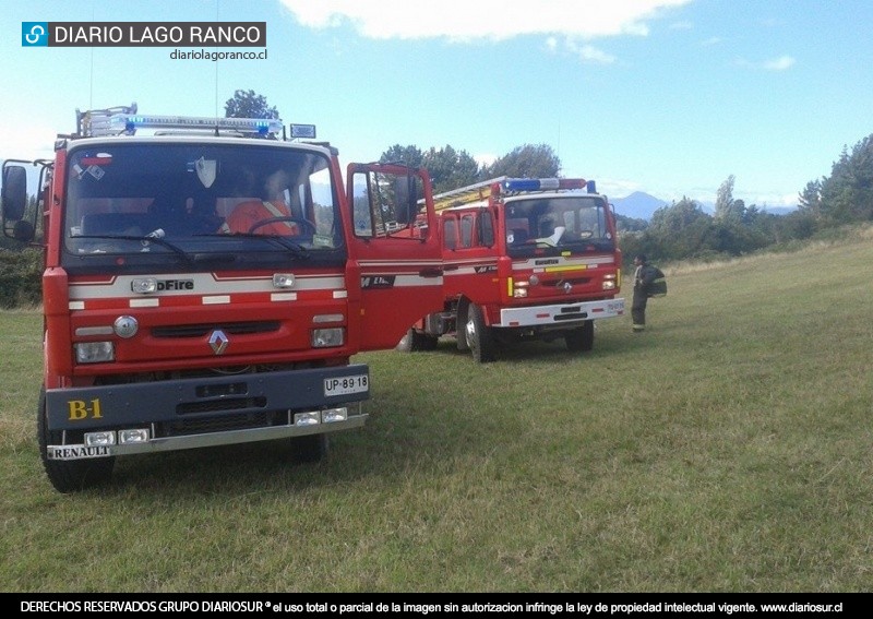
[[[533,5],[498,0],[280,0],[313,28],[350,24],[368,38],[502,40],[522,35],[585,39],[648,34],[647,21],[692,0],[541,0]]]

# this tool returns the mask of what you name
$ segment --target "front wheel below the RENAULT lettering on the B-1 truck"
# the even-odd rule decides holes
[[[60,437],[59,432],[51,432],[48,429],[45,388],[39,391],[36,433],[43,467],[46,469],[48,480],[58,492],[69,493],[86,490],[101,486],[111,479],[112,468],[116,464],[115,456],[74,461],[48,460],[49,443],[57,444],[60,442]]]

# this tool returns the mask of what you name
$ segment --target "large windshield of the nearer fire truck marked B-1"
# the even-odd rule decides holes
[[[101,144],[73,150],[68,172],[68,267],[344,258],[330,162],[311,150]]]

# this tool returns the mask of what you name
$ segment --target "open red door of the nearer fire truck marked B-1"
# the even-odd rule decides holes
[[[360,349],[393,348],[415,322],[443,308],[430,178],[423,169],[351,164],[346,179],[354,223],[349,279],[360,281]],[[349,281],[354,308],[352,286]]]

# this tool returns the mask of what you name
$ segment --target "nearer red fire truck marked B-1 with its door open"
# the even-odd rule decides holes
[[[427,172],[351,164],[344,184],[337,151],[290,127],[134,104],[76,111],[52,160],[4,162],[4,234],[33,241],[43,215],[37,427],[57,490],[131,454],[285,439],[319,460],[368,416],[350,357],[442,307]]]

